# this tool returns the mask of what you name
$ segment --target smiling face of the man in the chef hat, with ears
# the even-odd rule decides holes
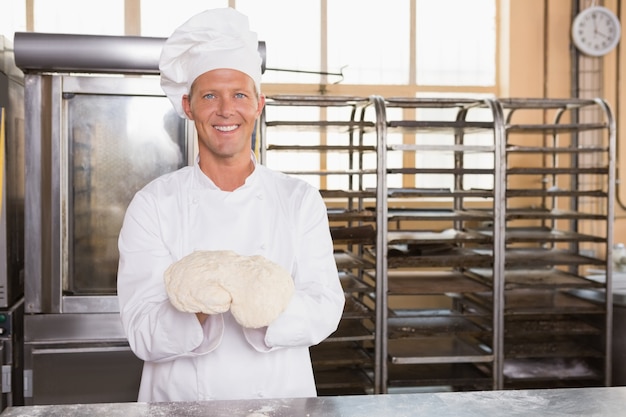
[[[205,72],[183,97],[183,109],[198,131],[201,155],[208,151],[218,159],[250,157],[254,123],[264,104],[252,78],[233,69]]]

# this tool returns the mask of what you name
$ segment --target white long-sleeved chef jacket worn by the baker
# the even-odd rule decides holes
[[[138,401],[315,396],[308,348],[336,330],[345,302],[326,213],[318,190],[262,165],[232,192],[197,162],[139,191],[118,270],[122,324],[144,361]],[[229,312],[201,325],[170,304],[163,279],[195,250],[263,255],[291,272],[294,296],[268,327],[242,328]]]

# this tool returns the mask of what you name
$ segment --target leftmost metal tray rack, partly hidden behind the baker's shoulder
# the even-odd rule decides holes
[[[376,109],[370,98],[273,96],[261,116],[261,162],[272,157],[304,159],[283,172],[314,181],[327,202],[335,261],[346,296],[335,333],[311,348],[320,394],[376,392],[376,265],[364,256],[376,244]],[[303,132],[307,142],[297,138]],[[288,139],[281,140],[281,135]],[[295,136],[294,136],[295,135]],[[295,139],[295,141],[294,141]],[[337,158],[337,159],[334,159]],[[340,161],[340,162],[335,162]],[[332,165],[332,164],[335,165]],[[333,184],[340,186],[334,186]]]

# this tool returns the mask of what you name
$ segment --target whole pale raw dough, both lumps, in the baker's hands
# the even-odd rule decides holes
[[[177,309],[207,314],[230,307],[243,327],[269,325],[287,307],[293,279],[280,265],[260,255],[196,251],[165,271],[170,301]]]

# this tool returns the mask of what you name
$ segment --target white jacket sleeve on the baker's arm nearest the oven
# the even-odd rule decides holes
[[[208,320],[203,329],[194,314],[170,304],[163,272],[174,259],[164,243],[159,212],[153,194],[138,193],[127,209],[118,241],[122,324],[133,352],[148,361],[206,353],[215,347],[223,328],[221,317]]]

